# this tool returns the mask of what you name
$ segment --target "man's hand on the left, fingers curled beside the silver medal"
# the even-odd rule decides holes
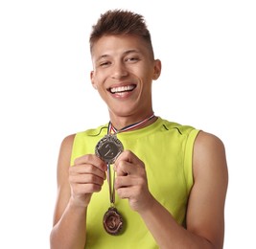
[[[76,205],[87,207],[93,192],[100,192],[105,181],[105,162],[96,155],[77,158],[69,169],[71,198]]]

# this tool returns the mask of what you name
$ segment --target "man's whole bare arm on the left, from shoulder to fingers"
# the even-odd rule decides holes
[[[74,135],[66,137],[58,156],[58,197],[51,232],[51,248],[84,248],[86,208],[91,194],[105,180],[105,164],[95,155],[84,155],[70,167]]]

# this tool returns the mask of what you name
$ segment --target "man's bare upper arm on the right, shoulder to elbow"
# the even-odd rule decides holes
[[[224,146],[219,138],[199,132],[194,147],[193,173],[187,229],[221,248],[228,176]]]

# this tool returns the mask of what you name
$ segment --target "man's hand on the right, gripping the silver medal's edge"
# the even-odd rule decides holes
[[[114,164],[115,190],[120,198],[128,198],[132,210],[140,212],[151,207],[153,197],[148,188],[144,163],[131,151],[120,154]]]

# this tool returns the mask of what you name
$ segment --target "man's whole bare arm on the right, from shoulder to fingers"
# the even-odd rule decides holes
[[[123,158],[122,158],[123,157]],[[126,172],[126,163],[134,164],[134,172]],[[144,219],[160,248],[222,248],[224,233],[224,201],[227,189],[227,166],[224,147],[217,137],[199,132],[195,142],[193,170],[195,184],[189,198],[187,229],[178,225],[174,217],[157,202],[148,190],[145,170],[132,155],[121,154],[117,160],[117,191],[123,198],[128,197],[132,209]],[[135,172],[135,169],[136,172]],[[124,172],[124,173],[122,173]],[[126,173],[140,175],[134,183],[126,186]],[[132,176],[134,178],[134,176]],[[129,182],[132,179],[129,180]]]

